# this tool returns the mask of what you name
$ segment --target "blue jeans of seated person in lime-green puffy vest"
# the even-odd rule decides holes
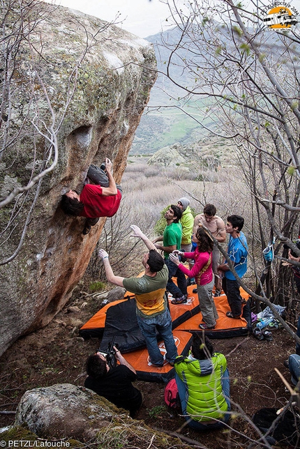
[[[184,385],[183,381],[181,381],[179,375],[175,374],[175,379],[178,387],[178,393],[180,397],[181,402],[181,409],[182,413],[184,415],[184,418],[186,419],[188,423],[188,427],[195,430],[209,430],[209,429],[218,429],[220,427],[224,427],[224,423],[227,423],[230,417],[230,413],[225,413],[223,422],[216,421],[216,423],[213,424],[204,424],[204,422],[196,421],[190,418],[188,414],[186,413],[186,398],[188,397],[188,391],[186,389],[186,386]],[[223,395],[225,397],[225,401],[227,402],[227,411],[230,411],[230,378],[229,378],[229,372],[226,369],[222,379],[221,379],[221,385],[223,390]]]

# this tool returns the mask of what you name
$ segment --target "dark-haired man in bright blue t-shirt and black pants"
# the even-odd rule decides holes
[[[227,217],[227,225],[225,225],[227,234],[230,234],[227,254],[240,279],[247,271],[248,254],[246,236],[241,232],[243,222],[243,217],[240,215],[230,215]],[[222,287],[231,309],[231,312],[227,312],[226,315],[229,318],[240,318],[243,298],[239,293],[239,282],[230,271],[227,261],[223,261],[223,264],[218,266],[218,271],[224,272]]]

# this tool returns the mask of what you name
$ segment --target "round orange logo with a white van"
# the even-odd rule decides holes
[[[269,29],[288,30],[298,23],[297,15],[298,11],[289,3],[275,2],[267,6],[263,20]]]

